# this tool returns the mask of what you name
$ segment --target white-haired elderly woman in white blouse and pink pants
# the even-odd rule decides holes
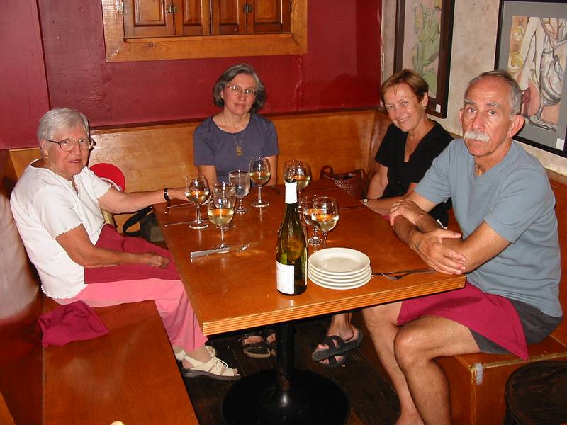
[[[41,159],[18,180],[11,209],[43,292],[61,305],[154,300],[184,375],[240,378],[205,345],[169,253],[104,225],[101,208],[134,212],[164,197],[184,199],[183,189],[123,193],[99,179],[86,166],[94,145],[89,122],[74,109],[43,115],[38,140]]]

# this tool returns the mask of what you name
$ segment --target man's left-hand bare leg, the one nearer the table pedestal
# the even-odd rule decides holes
[[[413,402],[408,382],[400,370],[394,355],[394,341],[399,327],[396,325],[400,314],[401,302],[378,305],[362,310],[364,322],[369,329],[370,337],[378,358],[392,380],[394,390],[400,400],[400,417],[396,424],[415,425],[423,424],[420,413]]]

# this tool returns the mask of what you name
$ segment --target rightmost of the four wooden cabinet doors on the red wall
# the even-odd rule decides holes
[[[290,0],[254,0],[254,10],[247,15],[248,33],[289,33],[290,12]]]

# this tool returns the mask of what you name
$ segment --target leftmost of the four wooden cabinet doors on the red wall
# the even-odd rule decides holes
[[[174,35],[173,0],[123,0],[125,37]]]

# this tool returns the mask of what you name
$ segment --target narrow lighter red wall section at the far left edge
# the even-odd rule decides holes
[[[0,1],[0,149],[36,145],[48,108],[35,0]]]

